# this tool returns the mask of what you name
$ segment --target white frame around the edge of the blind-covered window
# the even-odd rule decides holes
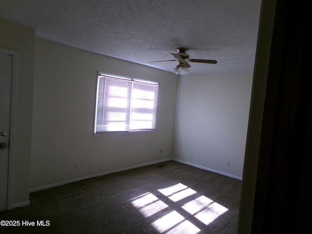
[[[98,117],[98,98],[99,98],[99,80],[100,78],[108,77],[108,78],[116,78],[121,80],[127,80],[131,82],[140,82],[144,84],[151,84],[156,85],[158,88],[157,90],[157,100],[156,100],[156,114],[155,114],[155,129],[139,129],[139,130],[125,130],[125,131],[97,131],[97,117]],[[133,90],[131,91],[133,93]],[[94,119],[94,136],[103,136],[103,135],[127,135],[127,134],[136,134],[136,133],[151,133],[156,131],[156,116],[157,116],[157,106],[158,106],[158,93],[159,93],[159,82],[152,81],[152,80],[146,80],[146,79],[139,79],[139,78],[130,78],[130,77],[124,77],[124,76],[117,76],[114,74],[104,73],[98,71],[98,79],[97,79],[97,92],[96,92],[96,107],[95,107],[95,119]],[[131,100],[130,100],[131,101]],[[154,110],[155,108],[153,108]],[[130,109],[131,113],[131,109]],[[129,113],[129,114],[130,114]],[[131,119],[129,121],[129,124],[131,122]]]

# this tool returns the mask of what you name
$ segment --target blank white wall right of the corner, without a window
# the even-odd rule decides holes
[[[241,179],[252,81],[253,73],[181,76],[174,157]]]

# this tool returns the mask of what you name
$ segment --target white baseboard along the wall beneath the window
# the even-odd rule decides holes
[[[135,169],[135,168],[138,168],[138,167],[149,166],[149,165],[153,165],[153,164],[160,163],[160,162],[165,162],[165,161],[170,161],[170,160],[174,160],[174,159],[173,158],[166,158],[166,159],[162,159],[162,160],[158,160],[158,161],[154,161],[154,162],[143,163],[143,164],[139,164],[139,165],[135,165],[135,166],[131,166],[131,167],[125,167],[125,168],[116,169],[116,170],[112,170],[112,171],[107,171],[107,172],[94,174],[94,175],[90,175],[90,176],[83,176],[83,177],[79,177],[79,178],[75,178],[75,179],[70,179],[70,180],[59,182],[59,183],[48,184],[48,185],[44,185],[44,186],[40,186],[40,187],[36,187],[36,188],[31,188],[29,190],[29,193],[34,193],[34,192],[37,192],[37,191],[58,187],[58,186],[61,186],[61,185],[64,185],[64,184],[77,182],[77,181],[80,181],[80,180],[83,180],[83,179],[89,179],[89,178],[98,177],[98,176],[105,176],[105,175],[116,173],[116,172],[127,171],[127,170],[130,170],[130,169]]]

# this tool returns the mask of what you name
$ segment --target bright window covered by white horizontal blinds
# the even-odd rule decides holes
[[[155,130],[158,83],[98,74],[94,133]]]

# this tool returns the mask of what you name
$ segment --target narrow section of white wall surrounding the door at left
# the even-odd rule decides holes
[[[29,199],[35,30],[0,19],[0,48],[19,53],[15,149],[10,148],[15,151],[13,191],[8,197],[11,209],[27,204]]]

